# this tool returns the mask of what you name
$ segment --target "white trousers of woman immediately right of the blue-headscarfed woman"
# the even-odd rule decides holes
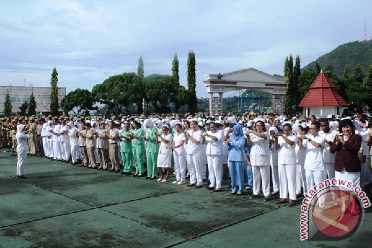
[[[261,181],[264,196],[270,195],[270,167],[269,165],[252,166],[253,194],[260,194]]]

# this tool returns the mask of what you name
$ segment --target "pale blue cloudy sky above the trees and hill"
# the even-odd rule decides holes
[[[372,1],[0,0],[0,85],[92,90],[106,78],[171,74],[176,52],[187,88],[189,50],[196,94],[206,74],[256,68],[283,75],[289,54],[301,67],[337,46],[372,35]],[[229,93],[225,93],[226,97]]]

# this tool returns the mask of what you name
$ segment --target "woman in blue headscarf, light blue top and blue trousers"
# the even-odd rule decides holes
[[[231,194],[243,194],[244,186],[244,145],[246,138],[240,125],[232,127],[232,135],[226,140],[229,152],[229,170],[231,173]],[[238,189],[237,189],[238,186]]]

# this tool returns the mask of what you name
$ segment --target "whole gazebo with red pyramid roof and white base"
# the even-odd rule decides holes
[[[304,116],[315,115],[327,117],[328,115],[341,115],[342,107],[347,102],[334,89],[334,84],[320,71],[310,90],[301,100],[299,106],[304,107]]]

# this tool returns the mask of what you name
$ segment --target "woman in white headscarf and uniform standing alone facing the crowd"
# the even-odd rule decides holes
[[[27,178],[25,177],[25,164],[26,164],[26,158],[27,158],[27,152],[28,152],[28,144],[27,140],[32,139],[32,133],[29,132],[28,135],[23,133],[25,131],[25,125],[19,124],[17,126],[17,155],[18,155],[18,161],[17,161],[17,177],[18,178]]]

